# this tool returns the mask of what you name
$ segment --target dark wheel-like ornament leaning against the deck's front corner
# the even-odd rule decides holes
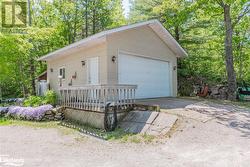
[[[113,109],[112,109],[113,108]],[[106,131],[113,131],[117,126],[117,108],[110,107],[110,103],[105,106],[104,128]]]

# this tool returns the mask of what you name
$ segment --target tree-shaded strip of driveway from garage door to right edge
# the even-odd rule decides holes
[[[218,123],[242,133],[242,137],[250,138],[250,109],[231,104],[213,103],[207,100],[183,98],[156,98],[137,100],[144,105],[159,105],[161,109],[190,110],[215,118]]]

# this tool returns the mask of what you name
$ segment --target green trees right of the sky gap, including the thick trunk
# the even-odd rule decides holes
[[[158,19],[187,50],[189,56],[178,63],[179,92],[188,95],[195,84],[228,84],[234,98],[234,84],[250,84],[249,1],[132,0],[131,3],[130,22]]]

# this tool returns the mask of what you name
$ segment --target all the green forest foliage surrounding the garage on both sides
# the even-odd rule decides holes
[[[194,84],[227,84],[225,10],[220,2],[230,7],[237,84],[250,84],[250,3],[246,0],[131,0],[128,18],[123,15],[122,0],[30,2],[31,19],[25,33],[0,31],[4,97],[35,93],[35,79],[46,70],[37,58],[100,31],[149,19],[158,19],[188,52],[187,58],[178,60],[183,95]]]

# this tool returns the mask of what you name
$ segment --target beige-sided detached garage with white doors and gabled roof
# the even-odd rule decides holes
[[[103,31],[39,60],[51,89],[137,85],[135,97],[177,95],[177,58],[187,53],[157,20]]]

